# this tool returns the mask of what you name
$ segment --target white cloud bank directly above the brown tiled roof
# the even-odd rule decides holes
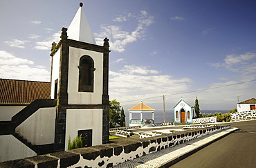
[[[0,50],[0,77],[15,80],[34,80],[48,82],[50,72],[43,66],[34,66],[34,62],[22,59]]]

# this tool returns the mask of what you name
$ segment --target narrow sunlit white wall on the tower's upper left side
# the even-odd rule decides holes
[[[53,70],[51,79],[51,99],[54,99],[55,80],[60,77],[60,49],[53,56]]]

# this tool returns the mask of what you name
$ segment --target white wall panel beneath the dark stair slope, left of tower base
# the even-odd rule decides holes
[[[16,127],[15,132],[32,144],[51,144],[55,137],[55,107],[41,108]]]

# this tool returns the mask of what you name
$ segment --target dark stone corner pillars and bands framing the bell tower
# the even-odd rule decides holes
[[[67,109],[103,109],[102,114],[102,142],[109,142],[109,39],[104,39],[104,46],[89,44],[82,41],[68,39],[67,28],[62,28],[61,40],[56,45],[53,43],[51,56],[60,49],[60,76],[59,91],[57,95],[57,114],[55,120],[55,151],[64,151],[66,134]],[[69,47],[92,50],[103,53],[103,93],[102,104],[68,104],[68,57]]]

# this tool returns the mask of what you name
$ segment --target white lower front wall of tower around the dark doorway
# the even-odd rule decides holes
[[[93,129],[92,145],[102,144],[102,109],[67,109],[65,150],[69,136],[73,140],[78,130],[86,129]]]

